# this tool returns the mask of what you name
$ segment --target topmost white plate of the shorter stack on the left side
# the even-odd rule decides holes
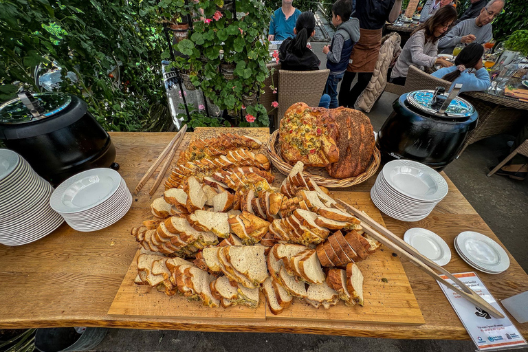
[[[118,190],[122,177],[111,168],[93,168],[60,184],[50,199],[57,212],[70,214],[98,206]]]

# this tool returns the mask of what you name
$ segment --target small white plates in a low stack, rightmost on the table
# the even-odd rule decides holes
[[[478,232],[461,232],[454,239],[454,249],[467,264],[487,274],[500,274],[509,267],[506,251]]]

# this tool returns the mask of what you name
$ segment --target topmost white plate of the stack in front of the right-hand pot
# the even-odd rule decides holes
[[[448,183],[429,166],[412,160],[392,160],[385,164],[383,177],[398,192],[423,201],[440,201],[448,194]]]

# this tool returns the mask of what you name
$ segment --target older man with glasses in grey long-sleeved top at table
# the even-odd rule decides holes
[[[493,38],[492,21],[500,14],[504,7],[504,0],[491,0],[476,19],[466,19],[455,25],[448,34],[438,42],[439,50],[445,54],[452,54],[454,47],[460,43],[487,43]]]

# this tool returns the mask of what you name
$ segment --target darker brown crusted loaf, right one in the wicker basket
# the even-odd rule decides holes
[[[371,120],[361,111],[338,107],[330,115],[339,128],[339,160],[327,165],[331,177],[344,179],[356,177],[371,164],[375,140]]]

